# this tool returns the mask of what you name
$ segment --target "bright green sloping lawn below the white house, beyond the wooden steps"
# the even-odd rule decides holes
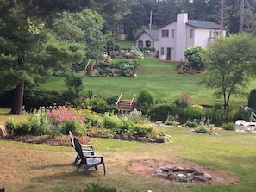
[[[116,59],[113,59],[115,62]],[[124,59],[128,61],[129,59]],[[176,63],[161,62],[153,57],[146,57],[144,60],[137,60],[140,66],[137,68],[137,77],[85,77],[84,90],[82,94],[87,95],[92,91],[95,96],[103,97],[120,96],[123,93],[124,99],[131,99],[134,94],[139,95],[143,89],[153,92],[157,100],[173,102],[181,97],[181,94],[188,93],[193,102],[203,105],[213,105],[216,102],[222,103],[222,98],[215,99],[213,90],[208,90],[197,85],[197,78],[200,75],[177,74]],[[230,105],[240,107],[247,105],[247,97],[250,90],[256,87],[256,80],[248,82],[248,88],[244,89],[244,97],[230,98]],[[63,77],[51,77],[46,84],[40,84],[38,89],[43,90],[65,90]]]

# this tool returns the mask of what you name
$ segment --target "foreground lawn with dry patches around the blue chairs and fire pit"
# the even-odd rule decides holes
[[[0,185],[6,191],[66,192],[82,191],[89,183],[103,183],[122,192],[226,192],[255,191],[256,134],[216,130],[218,136],[189,133],[184,127],[158,127],[172,136],[165,144],[146,144],[116,139],[91,139],[103,166],[85,176],[76,171],[72,147],[24,144],[0,139]],[[193,162],[234,173],[240,183],[228,185],[190,185],[160,182],[130,172],[135,160],[155,159],[171,163]],[[165,164],[163,164],[165,165]],[[141,170],[143,171],[143,170]],[[152,170],[154,174],[154,170]]]

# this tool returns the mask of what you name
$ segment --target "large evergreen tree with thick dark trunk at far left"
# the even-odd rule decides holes
[[[74,22],[63,22],[63,18],[66,19],[67,16],[61,15],[62,22],[60,18],[53,23],[62,23],[62,26],[70,30],[68,33],[66,33],[67,30],[62,31],[61,34],[61,30],[57,31],[57,28],[53,28],[57,31],[56,34],[48,28],[54,27],[54,24],[50,26],[47,23],[50,18],[49,12],[46,15],[47,9],[38,9],[42,6],[40,3],[36,0],[10,0],[0,4],[0,94],[15,89],[15,101],[11,110],[13,114],[22,112],[25,85],[43,81],[46,75],[57,66],[68,67],[72,62],[84,58],[85,44],[91,43],[91,36],[98,34],[98,28],[95,27],[97,23],[102,22],[100,15],[96,15],[87,23],[93,14],[85,11],[84,15],[78,15],[80,26],[77,25],[76,28]],[[75,15],[72,16],[74,18]],[[86,22],[82,23],[81,20]],[[87,27],[93,30],[86,31]],[[65,33],[70,36],[65,36]],[[83,39],[84,36],[88,38]],[[93,43],[97,45],[96,41]],[[93,50],[92,46],[86,47]]]

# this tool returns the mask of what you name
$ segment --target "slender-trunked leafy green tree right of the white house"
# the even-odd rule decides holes
[[[252,34],[232,34],[219,37],[205,53],[206,72],[199,84],[215,90],[214,96],[222,97],[224,109],[230,96],[245,96],[249,77],[254,76],[256,40]]]

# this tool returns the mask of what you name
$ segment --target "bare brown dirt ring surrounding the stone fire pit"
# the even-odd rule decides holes
[[[200,164],[194,164],[189,162],[165,162],[157,161],[154,159],[144,159],[134,161],[130,166],[130,171],[133,174],[140,175],[142,177],[152,178],[161,182],[172,182],[169,179],[164,177],[159,177],[155,173],[155,170],[161,166],[181,166],[184,168],[193,168],[199,172],[209,173],[212,176],[210,183],[193,181],[190,184],[213,184],[213,185],[227,185],[227,184],[237,184],[240,182],[239,177],[235,176],[233,173],[230,173],[225,170],[217,170],[209,166],[203,166]],[[175,182],[173,182],[175,183]],[[180,182],[176,182],[180,183]],[[185,183],[188,184],[188,183]]]

